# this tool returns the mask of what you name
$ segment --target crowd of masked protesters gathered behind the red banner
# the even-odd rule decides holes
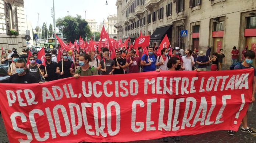
[[[248,47],[247,47],[248,48]],[[255,53],[252,50],[245,48],[242,52],[242,60],[240,64],[235,65],[234,69],[254,68],[252,61],[255,58]],[[157,48],[158,49],[158,48]],[[42,65],[42,61],[38,59],[37,53],[28,57],[30,64],[26,65],[24,60],[19,60],[19,55],[15,51],[8,50],[2,52],[2,64],[9,64],[8,74],[10,76],[10,83],[43,83],[57,79],[64,79],[74,76],[92,76],[92,75],[112,75],[112,74],[131,74],[138,72],[149,71],[206,71],[207,66],[211,63],[211,71],[220,71],[222,63],[226,63],[223,49],[218,53],[214,52],[210,56],[211,48],[207,47],[206,55],[203,51],[194,49],[182,49],[175,47],[173,49],[163,48],[157,56],[157,51],[154,47],[148,48],[148,54],[142,54],[143,49],[138,48],[139,55],[133,48],[120,48],[115,51],[114,59],[110,58],[108,48],[102,48],[99,53],[98,50],[94,52],[79,51],[63,51],[61,53],[61,60],[57,61],[57,50],[51,50],[46,53],[46,67]],[[26,50],[22,50],[21,54],[25,54]],[[171,54],[169,52],[172,52]],[[72,57],[74,55],[75,57]],[[239,51],[236,47],[231,52],[232,64],[237,63]],[[75,61],[73,61],[74,59]],[[255,69],[255,68],[254,68]],[[256,69],[253,80],[253,93],[256,90]],[[253,102],[255,97],[253,94]],[[252,104],[248,110],[252,109]],[[247,115],[243,118],[242,132],[256,134],[247,125]],[[228,134],[233,136],[234,131],[228,131]],[[163,138],[167,141],[167,138]],[[176,138],[175,140],[179,140]]]

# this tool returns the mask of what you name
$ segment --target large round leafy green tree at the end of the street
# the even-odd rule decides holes
[[[80,15],[76,17],[73,16],[65,16],[64,18],[58,18],[56,22],[57,28],[65,34],[65,38],[68,41],[75,41],[75,39],[79,39],[79,35],[83,39],[90,38],[92,35],[88,26],[88,22],[85,19],[82,19]]]

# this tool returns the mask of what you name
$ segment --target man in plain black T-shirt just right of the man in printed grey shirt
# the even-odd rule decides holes
[[[45,80],[47,82],[57,80],[58,79],[58,75],[56,73],[57,63],[55,61],[51,61],[51,54],[49,53],[45,54],[45,58],[46,58],[46,70],[47,70],[47,74],[44,75]]]

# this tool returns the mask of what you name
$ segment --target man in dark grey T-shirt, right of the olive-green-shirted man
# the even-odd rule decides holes
[[[98,69],[102,71],[102,75],[111,75],[115,70],[115,61],[110,59],[109,52],[103,53],[103,60],[100,60]]]

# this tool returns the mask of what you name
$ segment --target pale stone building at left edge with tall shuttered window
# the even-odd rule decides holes
[[[0,0],[0,47],[6,50],[15,48],[18,53],[26,48],[25,18],[23,0]]]

